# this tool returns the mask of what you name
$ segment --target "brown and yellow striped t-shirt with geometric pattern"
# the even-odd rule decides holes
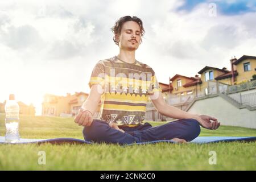
[[[141,125],[145,118],[148,95],[162,92],[155,72],[137,60],[126,63],[117,56],[98,61],[89,86],[101,85],[101,109],[98,119],[117,125]]]

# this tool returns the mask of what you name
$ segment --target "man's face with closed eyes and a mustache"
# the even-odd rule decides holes
[[[141,27],[134,21],[123,23],[119,35],[119,47],[128,51],[135,51],[141,43]]]

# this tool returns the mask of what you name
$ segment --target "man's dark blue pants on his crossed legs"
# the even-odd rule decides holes
[[[91,142],[129,144],[173,138],[180,138],[189,142],[198,137],[201,131],[196,119],[179,119],[155,127],[146,122],[141,126],[119,128],[125,133],[113,129],[104,121],[93,119],[92,125],[84,127],[82,133],[84,139]]]

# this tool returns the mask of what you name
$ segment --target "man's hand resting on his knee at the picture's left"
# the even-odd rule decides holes
[[[92,113],[90,113],[87,110],[79,110],[79,113],[76,115],[75,117],[75,122],[79,125],[79,126],[90,126],[92,125]]]

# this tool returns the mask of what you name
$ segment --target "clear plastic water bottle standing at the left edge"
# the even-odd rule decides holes
[[[19,142],[19,105],[15,101],[14,94],[10,94],[9,101],[5,104],[5,126],[6,126],[6,143]]]

